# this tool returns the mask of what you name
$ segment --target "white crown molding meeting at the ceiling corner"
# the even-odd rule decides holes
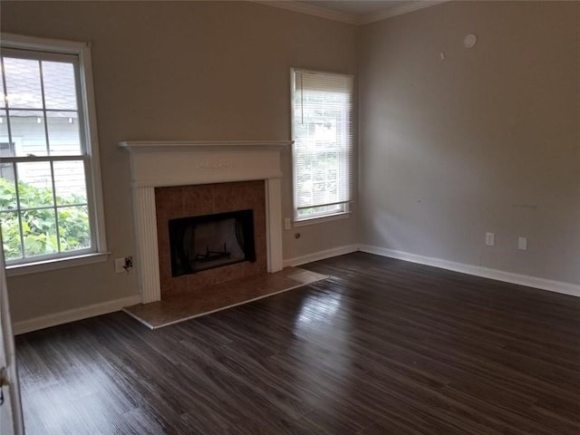
[[[301,14],[309,14],[314,16],[319,16],[327,20],[339,21],[346,24],[362,25],[370,24],[376,21],[386,20],[387,18],[392,18],[393,16],[409,14],[410,12],[418,11],[426,7],[440,5],[441,3],[446,3],[451,0],[410,0],[402,5],[388,7],[379,12],[373,12],[372,14],[366,14],[363,16],[346,14],[338,11],[331,11],[324,7],[307,5],[304,3],[298,3],[294,0],[250,0],[253,3],[259,3],[266,6],[274,6],[280,9],[285,9],[287,11],[298,12]]]

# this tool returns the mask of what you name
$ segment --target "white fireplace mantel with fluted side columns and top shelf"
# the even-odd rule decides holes
[[[141,302],[159,301],[160,266],[155,188],[264,179],[267,270],[282,269],[280,151],[290,140],[125,141],[131,187]]]

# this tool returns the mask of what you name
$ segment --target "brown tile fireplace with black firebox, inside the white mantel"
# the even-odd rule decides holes
[[[213,184],[197,184],[190,186],[172,186],[155,189],[155,214],[157,221],[157,239],[160,269],[161,298],[169,295],[189,293],[200,295],[204,287],[223,283],[248,275],[266,273],[267,245],[266,245],[266,183],[264,180],[235,181]],[[251,215],[251,218],[250,218]],[[179,249],[191,252],[190,237],[194,225],[201,224],[206,236],[216,227],[207,227],[211,221],[221,221],[219,227],[227,227],[232,218],[246,227],[246,239],[252,236],[254,252],[248,253],[248,258],[254,261],[227,261],[227,256],[208,260],[198,268],[197,273],[190,273],[187,265],[183,264],[185,256],[192,258],[192,254],[178,253]],[[246,225],[243,225],[246,224]],[[235,223],[234,223],[235,226]],[[187,237],[183,240],[171,240],[171,229],[178,229]],[[177,228],[175,228],[177,227]],[[240,228],[241,229],[241,228]],[[231,231],[231,227],[230,227]],[[234,228],[235,231],[235,228]],[[223,244],[227,247],[236,243],[234,237],[220,237],[217,242],[211,242],[208,250],[223,253]],[[248,243],[249,245],[249,243]],[[228,250],[228,248],[226,248]],[[200,247],[199,254],[204,255],[206,246]],[[176,265],[175,254],[181,257]],[[210,256],[211,257],[211,256]],[[214,263],[215,260],[215,263]],[[232,260],[232,258],[229,258]],[[219,264],[223,262],[222,264]],[[209,263],[209,264],[208,264]],[[219,267],[213,267],[219,264]],[[176,267],[179,266],[178,274]],[[193,269],[193,267],[191,267]],[[201,270],[203,269],[203,270]]]

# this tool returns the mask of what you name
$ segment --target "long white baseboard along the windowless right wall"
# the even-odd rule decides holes
[[[536,276],[512,274],[498,269],[489,269],[488,267],[466,265],[464,263],[455,263],[453,261],[442,260],[431,256],[418,256],[408,252],[396,251],[384,247],[372,247],[370,245],[360,245],[359,250],[377,256],[388,256],[397,258],[411,263],[420,265],[440,267],[441,269],[453,270],[463,274],[476,275],[484,278],[496,279],[506,283],[527,285],[528,287],[548,290],[550,292],[562,293],[580,297],[580,285],[565,283],[562,281],[552,281],[549,279],[538,278]]]

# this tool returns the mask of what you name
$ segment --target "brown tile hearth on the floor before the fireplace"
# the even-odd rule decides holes
[[[157,329],[263,297],[277,295],[328,277],[328,275],[317,274],[299,267],[285,267],[274,274],[252,275],[209,285],[199,292],[203,295],[166,296],[158,302],[128,306],[123,308],[123,311],[151,329]]]

